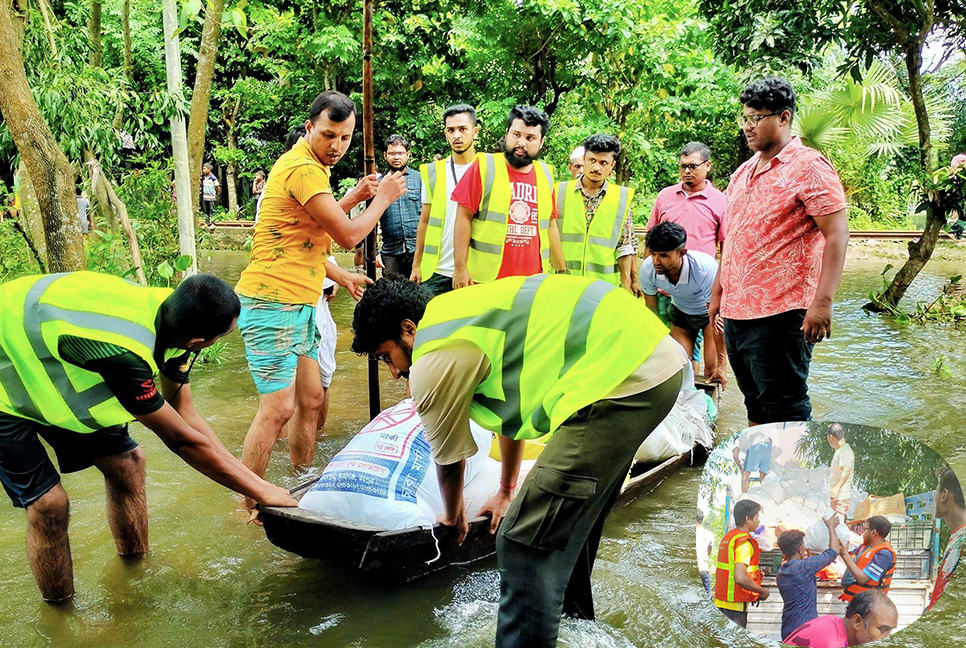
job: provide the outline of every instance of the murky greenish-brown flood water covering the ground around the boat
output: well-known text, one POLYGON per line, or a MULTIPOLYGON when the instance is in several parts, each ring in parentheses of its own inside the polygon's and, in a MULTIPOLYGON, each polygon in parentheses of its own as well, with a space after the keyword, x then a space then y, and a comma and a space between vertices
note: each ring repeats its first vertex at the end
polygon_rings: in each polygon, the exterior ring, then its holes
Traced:
MULTIPOLYGON (((216 253, 207 266, 234 282, 244 253, 216 253)), ((834 337, 816 350, 810 384, 814 416, 913 436, 966 475, 966 332, 899 325, 861 311, 884 262, 849 263, 835 305, 834 337), (940 358, 950 373, 937 372, 940 358)), ((910 290, 934 295, 953 264, 935 263, 910 290)), ((339 368, 324 465, 368 419, 365 362, 348 351, 352 301, 337 295, 339 368)), ((219 365, 192 375, 197 409, 225 444, 241 454, 257 397, 234 333, 219 365)), ((383 406, 405 386, 381 369, 383 406)), ((720 434, 743 427, 736 386, 725 392, 720 434)), ((350 569, 303 560, 274 547, 246 525, 236 497, 193 472, 153 434, 134 426, 148 456, 151 552, 127 564, 114 552, 99 473, 67 475, 76 600, 63 608, 40 602, 24 552, 25 518, 0 506, 0 646, 491 646, 499 577, 495 559, 390 585, 350 569)), ((318 468, 316 468, 318 472, 318 468)), ((276 449, 267 478, 292 486, 304 479, 276 449)), ((615 511, 597 569, 598 621, 564 622, 561 646, 762 646, 714 612, 694 566, 694 510, 700 471, 686 469, 651 495, 615 511)), ((966 576, 919 622, 877 645, 966 644, 966 576)))

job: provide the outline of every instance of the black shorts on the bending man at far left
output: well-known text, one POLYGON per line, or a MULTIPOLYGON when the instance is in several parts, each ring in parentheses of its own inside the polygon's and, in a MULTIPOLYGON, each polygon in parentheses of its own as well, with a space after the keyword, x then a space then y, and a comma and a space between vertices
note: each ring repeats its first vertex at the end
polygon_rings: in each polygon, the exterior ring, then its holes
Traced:
POLYGON ((41 437, 54 449, 62 473, 90 468, 96 459, 138 446, 127 425, 81 434, 0 413, 0 481, 16 507, 27 508, 60 483, 41 437))

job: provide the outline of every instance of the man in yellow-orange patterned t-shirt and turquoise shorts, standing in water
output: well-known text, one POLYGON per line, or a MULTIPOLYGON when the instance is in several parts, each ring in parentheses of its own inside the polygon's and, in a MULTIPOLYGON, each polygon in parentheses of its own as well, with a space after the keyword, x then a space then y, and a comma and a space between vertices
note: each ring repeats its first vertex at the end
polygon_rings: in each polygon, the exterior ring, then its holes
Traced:
POLYGON ((406 192, 405 178, 390 173, 378 188, 374 177, 364 178, 336 202, 329 169, 349 148, 355 117, 355 105, 345 95, 327 91, 316 97, 305 135, 279 157, 268 175, 251 259, 235 286, 242 304, 238 328, 259 394, 242 461, 258 475, 265 473, 272 447, 289 419, 292 464, 310 465, 315 454, 323 394, 315 305, 322 281, 328 273, 356 298, 368 281, 327 263, 331 242, 353 248, 386 207, 406 192), (350 221, 346 213, 370 197, 369 207, 350 221))

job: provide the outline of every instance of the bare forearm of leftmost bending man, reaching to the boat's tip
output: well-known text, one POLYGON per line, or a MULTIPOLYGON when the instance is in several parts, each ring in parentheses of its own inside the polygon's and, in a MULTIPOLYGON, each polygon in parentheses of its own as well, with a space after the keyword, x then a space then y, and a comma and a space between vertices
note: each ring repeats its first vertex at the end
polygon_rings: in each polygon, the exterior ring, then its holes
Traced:
POLYGON ((136 418, 157 434, 164 445, 184 459, 185 463, 222 486, 251 497, 260 504, 298 505, 287 489, 268 483, 246 468, 223 445, 216 444, 207 434, 188 425, 170 403, 165 403, 151 414, 138 415, 136 418))

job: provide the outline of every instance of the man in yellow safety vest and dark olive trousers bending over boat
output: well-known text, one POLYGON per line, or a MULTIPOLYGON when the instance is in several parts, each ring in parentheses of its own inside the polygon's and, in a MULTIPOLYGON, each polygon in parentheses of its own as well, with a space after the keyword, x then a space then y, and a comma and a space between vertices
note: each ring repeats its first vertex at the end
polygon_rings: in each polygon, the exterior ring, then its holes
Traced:
POLYGON ((588 277, 509 277, 430 297, 377 281, 356 307, 352 350, 409 378, 445 503, 438 522, 460 541, 463 470, 477 452, 469 419, 497 434, 500 489, 477 513, 499 527, 496 643, 550 648, 561 614, 594 618, 604 518, 687 360, 640 301, 588 277), (513 499, 524 442, 540 437, 549 441, 513 499))

